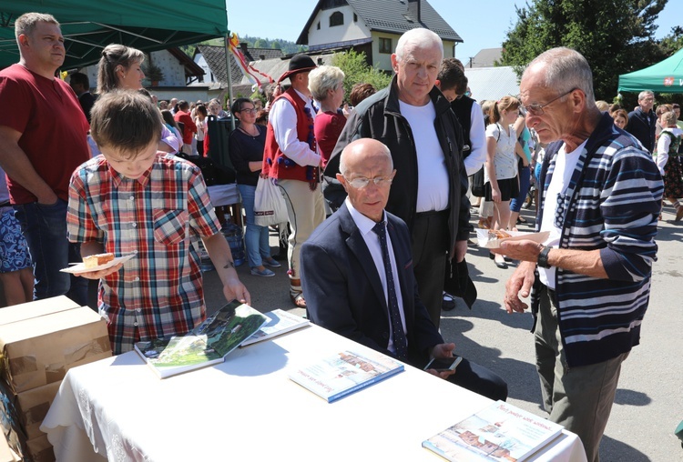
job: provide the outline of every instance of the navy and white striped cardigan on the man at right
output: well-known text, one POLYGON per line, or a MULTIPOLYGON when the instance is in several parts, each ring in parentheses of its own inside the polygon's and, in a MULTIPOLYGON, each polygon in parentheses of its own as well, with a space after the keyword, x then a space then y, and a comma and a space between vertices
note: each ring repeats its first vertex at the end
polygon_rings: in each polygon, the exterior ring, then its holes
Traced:
MULTIPOLYGON (((541 173, 541 226, 556 156, 562 142, 546 148, 541 173)), ((600 249, 607 279, 556 268, 557 317, 570 367, 596 364, 630 351, 640 339, 656 260, 657 222, 663 183, 637 139, 603 115, 586 142, 566 189, 559 247, 600 249)), ((547 198, 548 206, 556 200, 547 198)), ((532 311, 538 311, 536 274, 532 311)))

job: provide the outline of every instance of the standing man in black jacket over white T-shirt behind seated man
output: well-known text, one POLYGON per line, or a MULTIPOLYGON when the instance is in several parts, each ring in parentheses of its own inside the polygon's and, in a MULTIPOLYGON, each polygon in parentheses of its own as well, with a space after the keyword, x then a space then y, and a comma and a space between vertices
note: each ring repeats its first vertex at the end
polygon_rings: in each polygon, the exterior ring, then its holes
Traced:
MULTIPOLYGON (((392 55, 392 84, 368 97, 349 118, 325 168, 326 181, 339 173, 339 156, 357 138, 374 138, 392 152, 397 174, 386 206, 408 225, 415 279, 433 324, 441 318, 446 257, 462 262, 467 251, 470 203, 461 149, 462 131, 451 105, 434 86, 443 44, 432 31, 401 36, 392 55)), ((336 183, 325 189, 341 206, 336 183)))

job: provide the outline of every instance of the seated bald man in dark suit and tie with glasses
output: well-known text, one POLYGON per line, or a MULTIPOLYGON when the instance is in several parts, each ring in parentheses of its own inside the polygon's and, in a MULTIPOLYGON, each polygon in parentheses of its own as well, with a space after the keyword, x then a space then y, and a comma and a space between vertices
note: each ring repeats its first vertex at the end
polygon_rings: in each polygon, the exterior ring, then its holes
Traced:
MULTIPOLYGON (((348 197, 301 247, 301 283, 314 324, 422 368, 430 357, 453 357, 455 345, 443 342, 418 296, 408 227, 384 211, 395 173, 389 148, 377 140, 344 148, 337 179, 348 197)), ((502 378, 465 359, 455 373, 429 372, 485 397, 507 397, 502 378)))

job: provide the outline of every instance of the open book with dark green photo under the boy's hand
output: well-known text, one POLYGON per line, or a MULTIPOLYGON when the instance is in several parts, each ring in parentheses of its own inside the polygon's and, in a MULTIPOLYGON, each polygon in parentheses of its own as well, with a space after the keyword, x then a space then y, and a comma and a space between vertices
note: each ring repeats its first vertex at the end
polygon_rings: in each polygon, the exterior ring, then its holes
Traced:
POLYGON ((251 306, 235 300, 185 336, 138 342, 135 349, 159 377, 171 377, 222 363, 268 319, 251 306))

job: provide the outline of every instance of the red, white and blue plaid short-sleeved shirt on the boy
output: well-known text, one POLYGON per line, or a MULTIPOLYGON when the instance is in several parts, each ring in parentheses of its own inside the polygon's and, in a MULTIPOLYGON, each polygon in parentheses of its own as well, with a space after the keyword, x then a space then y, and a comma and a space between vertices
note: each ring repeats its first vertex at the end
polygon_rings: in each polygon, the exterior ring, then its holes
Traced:
POLYGON ((191 241, 219 232, 219 221, 198 167, 158 156, 143 176, 129 179, 97 156, 71 177, 66 224, 72 242, 137 254, 100 280, 100 313, 116 354, 138 340, 184 334, 205 319, 191 241))

